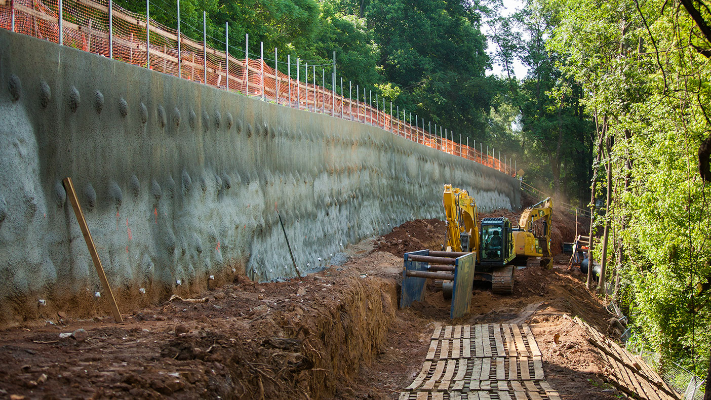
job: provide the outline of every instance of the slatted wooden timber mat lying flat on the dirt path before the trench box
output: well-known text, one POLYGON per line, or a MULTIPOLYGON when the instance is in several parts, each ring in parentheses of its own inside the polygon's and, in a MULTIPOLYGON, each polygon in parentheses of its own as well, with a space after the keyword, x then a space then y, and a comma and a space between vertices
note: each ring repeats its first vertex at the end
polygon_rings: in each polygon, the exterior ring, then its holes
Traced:
POLYGON ((560 400, 545 382, 528 325, 435 328, 422 370, 400 400, 560 400))

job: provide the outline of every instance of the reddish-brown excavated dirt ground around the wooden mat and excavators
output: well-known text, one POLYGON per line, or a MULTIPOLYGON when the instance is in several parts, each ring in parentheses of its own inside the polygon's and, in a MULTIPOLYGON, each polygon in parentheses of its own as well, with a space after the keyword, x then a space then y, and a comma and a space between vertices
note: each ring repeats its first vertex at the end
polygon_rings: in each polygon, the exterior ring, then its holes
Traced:
MULTIPOLYGON (((555 216, 556 249, 572 241, 574 220, 555 216)), ((562 399, 623 397, 605 383, 606 365, 584 331, 564 315, 609 337, 619 332, 560 251, 551 270, 517 271, 511 296, 477 286, 464 318, 449 319, 449 301, 431 284, 422 303, 399 309, 402 254, 442 242, 444 222, 415 220, 351 246, 343 266, 303 279, 240 276, 188 301, 136 310, 124 323, 68 311, 6 328, 0 398, 397 399, 422 368, 434 328, 523 322, 562 399)))

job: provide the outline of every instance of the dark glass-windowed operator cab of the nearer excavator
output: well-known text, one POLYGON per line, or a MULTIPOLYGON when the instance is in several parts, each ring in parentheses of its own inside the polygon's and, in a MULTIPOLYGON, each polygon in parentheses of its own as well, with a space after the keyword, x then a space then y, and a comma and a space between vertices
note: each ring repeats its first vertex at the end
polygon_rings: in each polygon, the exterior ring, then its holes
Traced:
POLYGON ((508 218, 481 220, 481 254, 479 264, 485 269, 505 266, 515 257, 513 235, 508 218))

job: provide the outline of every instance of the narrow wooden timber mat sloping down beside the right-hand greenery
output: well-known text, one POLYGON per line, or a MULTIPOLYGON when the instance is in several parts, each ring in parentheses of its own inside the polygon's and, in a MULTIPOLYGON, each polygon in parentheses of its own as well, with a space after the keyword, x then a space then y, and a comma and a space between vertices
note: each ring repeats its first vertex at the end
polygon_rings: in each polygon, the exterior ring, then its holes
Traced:
POLYGON ((646 362, 609 340, 599 330, 575 317, 602 360, 607 364, 606 378, 625 394, 636 399, 678 400, 679 396, 646 362))

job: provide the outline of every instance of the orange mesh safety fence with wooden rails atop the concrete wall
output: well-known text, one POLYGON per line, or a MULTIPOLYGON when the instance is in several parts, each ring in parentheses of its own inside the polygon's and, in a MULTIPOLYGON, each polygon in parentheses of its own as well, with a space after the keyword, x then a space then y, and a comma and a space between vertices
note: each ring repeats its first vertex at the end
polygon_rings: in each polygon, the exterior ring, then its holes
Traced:
MULTIPOLYGON (((309 82, 297 81, 284 73, 284 62, 276 65, 277 71, 259 58, 236 58, 225 50, 215 50, 202 41, 178 34, 176 29, 152 19, 146 24, 144 14, 127 11, 115 4, 112 6, 109 40, 108 0, 63 0, 61 4, 63 45, 223 90, 261 97, 287 107, 379 126, 424 146, 516 175, 510 163, 482 153, 476 146, 469 147, 433 135, 422 126, 392 117, 377 105, 373 107, 359 99, 342 97, 314 84, 313 70, 307 70, 309 82)), ((58 0, 0 0, 0 28, 9 31, 59 43, 58 18, 58 0)), ((323 82, 323 75, 316 74, 316 83, 319 78, 323 82)))

